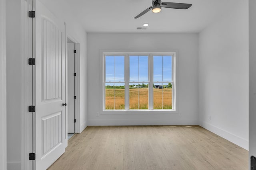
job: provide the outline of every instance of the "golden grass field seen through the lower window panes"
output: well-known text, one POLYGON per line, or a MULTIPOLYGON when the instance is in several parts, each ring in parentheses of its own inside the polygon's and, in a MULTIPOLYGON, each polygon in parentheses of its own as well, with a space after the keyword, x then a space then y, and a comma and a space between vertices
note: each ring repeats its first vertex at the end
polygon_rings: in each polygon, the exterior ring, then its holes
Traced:
MULTIPOLYGON (((164 109, 172 109, 172 88, 154 88, 153 95, 154 109, 163 109, 163 107, 164 109)), ((129 98, 130 109, 148 109, 148 88, 130 88, 129 98), (140 98, 138 97, 139 93, 140 98), (140 100, 140 108, 138 100, 140 100)), ((116 102, 114 100, 114 89, 106 89, 106 110, 124 109, 124 89, 116 89, 116 102)))

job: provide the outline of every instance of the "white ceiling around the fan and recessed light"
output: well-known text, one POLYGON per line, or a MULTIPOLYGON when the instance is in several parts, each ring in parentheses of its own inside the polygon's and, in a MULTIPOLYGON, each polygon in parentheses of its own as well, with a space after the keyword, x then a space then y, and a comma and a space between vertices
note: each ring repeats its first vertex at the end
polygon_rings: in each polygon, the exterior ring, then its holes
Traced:
MULTIPOLYGON (((87 32, 104 33, 197 33, 228 12, 232 0, 162 0, 190 3, 187 10, 162 8, 138 19, 134 17, 150 7, 151 0, 40 0, 57 16, 72 18, 87 32), (146 30, 137 30, 143 23, 146 30)), ((234 1, 233 1, 234 2, 234 1)))

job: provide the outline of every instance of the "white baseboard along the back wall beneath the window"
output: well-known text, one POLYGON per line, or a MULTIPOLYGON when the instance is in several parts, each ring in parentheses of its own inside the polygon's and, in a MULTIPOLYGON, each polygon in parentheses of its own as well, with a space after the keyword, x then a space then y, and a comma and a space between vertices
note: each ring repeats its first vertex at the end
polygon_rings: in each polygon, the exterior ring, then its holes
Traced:
POLYGON ((198 125, 198 119, 90 119, 88 126, 198 125))

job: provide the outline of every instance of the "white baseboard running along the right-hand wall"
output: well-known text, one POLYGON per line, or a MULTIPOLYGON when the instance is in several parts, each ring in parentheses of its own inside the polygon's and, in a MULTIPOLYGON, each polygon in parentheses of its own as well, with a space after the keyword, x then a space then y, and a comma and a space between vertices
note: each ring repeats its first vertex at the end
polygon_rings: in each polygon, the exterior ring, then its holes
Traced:
POLYGON ((207 122, 200 121, 199 125, 203 127, 204 129, 207 129, 208 131, 211 131, 212 133, 215 133, 216 135, 219 135, 220 137, 223 137, 224 139, 246 149, 249 150, 249 141, 246 139, 243 139, 237 135, 234 135, 232 133, 229 133, 228 131, 225 131, 223 129, 220 129, 214 125, 211 125, 207 122))

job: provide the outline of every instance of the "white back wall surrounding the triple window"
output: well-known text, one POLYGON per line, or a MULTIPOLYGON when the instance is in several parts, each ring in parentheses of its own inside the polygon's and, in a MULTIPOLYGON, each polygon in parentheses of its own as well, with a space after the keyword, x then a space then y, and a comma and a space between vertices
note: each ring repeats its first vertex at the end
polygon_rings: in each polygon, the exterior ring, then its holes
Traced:
MULTIPOLYGON (((198 34, 88 33, 88 125, 197 125, 198 34), (178 51, 178 114, 102 113, 102 54, 100 50, 178 51), (96 113, 100 115, 97 117, 96 113)), ((128 113, 128 112, 126 112, 128 113)), ((145 113, 145 112, 143 112, 145 113)), ((147 113, 147 111, 146 111, 147 113)))

